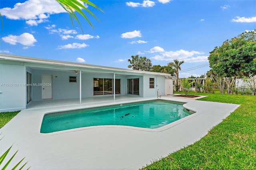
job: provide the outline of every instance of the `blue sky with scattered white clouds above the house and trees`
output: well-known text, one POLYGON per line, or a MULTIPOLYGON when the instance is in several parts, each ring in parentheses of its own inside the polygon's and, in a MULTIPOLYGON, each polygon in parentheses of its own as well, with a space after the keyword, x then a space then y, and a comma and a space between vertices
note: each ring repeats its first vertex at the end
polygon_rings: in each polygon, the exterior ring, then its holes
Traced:
MULTIPOLYGON (((55 0, 1 0, 0 52, 128 68, 132 55, 153 65, 184 60, 180 77, 210 68, 216 46, 256 29, 255 0, 91 0, 94 29, 78 15, 84 34, 55 0)), ((86 4, 85 4, 86 5, 86 4)))

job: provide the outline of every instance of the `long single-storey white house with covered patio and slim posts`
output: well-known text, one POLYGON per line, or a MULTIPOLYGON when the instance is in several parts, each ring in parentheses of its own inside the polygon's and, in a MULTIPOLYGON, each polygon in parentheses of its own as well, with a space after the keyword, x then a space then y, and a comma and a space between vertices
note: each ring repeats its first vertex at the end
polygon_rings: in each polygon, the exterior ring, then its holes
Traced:
POLYGON ((0 112, 26 109, 33 101, 117 95, 157 97, 173 93, 165 73, 0 54, 0 112))

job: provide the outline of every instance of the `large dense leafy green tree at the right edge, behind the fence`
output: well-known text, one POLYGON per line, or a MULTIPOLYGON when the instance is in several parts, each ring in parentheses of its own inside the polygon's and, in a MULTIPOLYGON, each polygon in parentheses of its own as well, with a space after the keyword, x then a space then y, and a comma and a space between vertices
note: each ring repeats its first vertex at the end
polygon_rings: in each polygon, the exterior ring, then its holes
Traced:
POLYGON ((211 72, 223 77, 256 75, 256 30, 244 32, 215 47, 208 57, 211 72))

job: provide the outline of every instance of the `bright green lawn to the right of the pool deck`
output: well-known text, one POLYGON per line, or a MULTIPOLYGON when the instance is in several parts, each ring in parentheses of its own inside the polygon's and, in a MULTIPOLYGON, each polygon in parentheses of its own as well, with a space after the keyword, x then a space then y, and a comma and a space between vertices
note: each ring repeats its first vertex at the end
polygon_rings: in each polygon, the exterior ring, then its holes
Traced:
MULTIPOLYGON (((180 92, 184 94, 184 92, 180 92)), ((201 101, 239 104, 240 107, 213 127, 206 136, 143 170, 255 170, 256 169, 256 96, 207 95, 201 101)))

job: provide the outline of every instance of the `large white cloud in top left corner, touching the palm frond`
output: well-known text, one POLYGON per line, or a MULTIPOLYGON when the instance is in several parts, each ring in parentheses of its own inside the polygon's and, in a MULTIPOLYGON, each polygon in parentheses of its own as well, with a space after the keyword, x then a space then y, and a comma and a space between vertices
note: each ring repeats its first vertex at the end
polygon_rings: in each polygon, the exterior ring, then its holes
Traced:
MULTIPOLYGON (((80 3, 85 5, 81 1, 80 3)), ((28 20, 26 23, 31 26, 47 22, 46 19, 51 14, 62 12, 66 11, 55 0, 27 0, 23 3, 16 3, 13 8, 6 7, 0 10, 2 16, 11 20, 28 20)))

